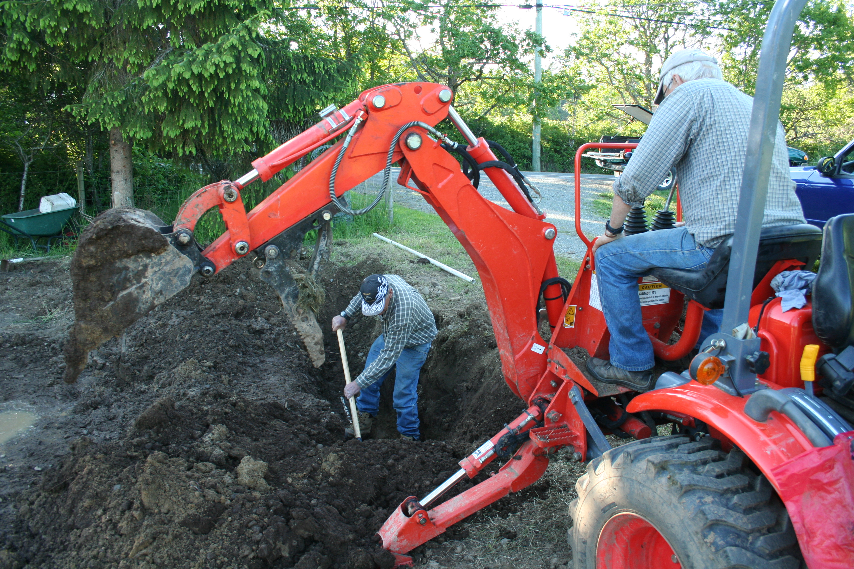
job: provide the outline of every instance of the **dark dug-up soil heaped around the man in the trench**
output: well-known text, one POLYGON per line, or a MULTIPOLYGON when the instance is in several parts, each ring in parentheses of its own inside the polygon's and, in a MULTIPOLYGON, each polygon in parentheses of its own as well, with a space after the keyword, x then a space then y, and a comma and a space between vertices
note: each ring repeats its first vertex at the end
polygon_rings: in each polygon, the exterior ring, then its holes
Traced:
MULTIPOLYGON (((362 278, 385 271, 377 259, 327 267, 319 369, 249 263, 194 278, 93 351, 76 391, 60 380, 69 318, 4 328, 0 369, 20 380, 0 395, 42 419, 0 471, 0 567, 390 566, 375 532, 391 509, 440 484, 522 404, 500 374, 483 299, 431 303, 440 332, 418 390, 425 441, 397 439, 392 374, 373 438, 345 442, 328 322, 362 278)), ((8 305, 69 305, 67 269, 44 273, 10 277, 8 305)), ((442 294, 442 277, 403 276, 425 298, 442 294)), ((349 323, 354 376, 377 334, 373 319, 349 323)))

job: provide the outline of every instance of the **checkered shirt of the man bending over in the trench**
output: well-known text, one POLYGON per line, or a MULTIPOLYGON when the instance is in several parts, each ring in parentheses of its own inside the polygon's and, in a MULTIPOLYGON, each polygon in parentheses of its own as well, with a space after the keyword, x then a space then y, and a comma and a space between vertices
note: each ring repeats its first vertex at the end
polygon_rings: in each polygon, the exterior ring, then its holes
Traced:
MULTIPOLYGON (((371 365, 367 366, 356 383, 360 387, 370 386, 383 376, 401 357, 403 348, 416 345, 430 344, 436 338, 436 319, 424 298, 417 290, 397 275, 383 275, 389 279, 389 287, 393 291, 389 310, 382 316, 376 316, 383 321, 385 347, 371 365)), ((343 316, 348 320, 361 313, 362 295, 357 293, 343 316)))

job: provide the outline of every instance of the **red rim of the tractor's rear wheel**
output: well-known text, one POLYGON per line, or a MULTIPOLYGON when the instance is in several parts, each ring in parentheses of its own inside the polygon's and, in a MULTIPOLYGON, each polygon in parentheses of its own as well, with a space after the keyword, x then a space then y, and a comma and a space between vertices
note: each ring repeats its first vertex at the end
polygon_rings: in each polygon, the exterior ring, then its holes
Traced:
POLYGON ((605 522, 596 544, 597 569, 679 569, 670 543, 638 514, 622 512, 605 522))

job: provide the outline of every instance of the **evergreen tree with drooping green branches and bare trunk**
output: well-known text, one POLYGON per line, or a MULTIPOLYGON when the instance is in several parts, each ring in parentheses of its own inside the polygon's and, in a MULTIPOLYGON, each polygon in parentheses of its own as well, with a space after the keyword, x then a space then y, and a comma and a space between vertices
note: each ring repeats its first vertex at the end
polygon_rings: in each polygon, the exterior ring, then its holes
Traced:
POLYGON ((70 109, 109 131, 113 205, 132 205, 132 143, 176 157, 265 148, 271 110, 304 119, 352 90, 354 61, 301 50, 289 25, 305 32, 268 0, 9 0, 0 71, 85 85, 70 109))

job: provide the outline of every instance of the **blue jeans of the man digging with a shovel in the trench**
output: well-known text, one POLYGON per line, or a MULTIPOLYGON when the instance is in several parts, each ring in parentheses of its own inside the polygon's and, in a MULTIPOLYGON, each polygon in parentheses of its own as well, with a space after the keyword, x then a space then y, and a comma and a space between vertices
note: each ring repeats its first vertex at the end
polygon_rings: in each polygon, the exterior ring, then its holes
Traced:
MULTIPOLYGON (((380 334, 371 345, 371 351, 368 351, 365 367, 377 359, 384 346, 385 339, 383 334, 380 334)), ((421 372, 424 360, 427 359, 428 351, 430 351, 430 344, 404 348, 401 351, 401 357, 398 357, 395 363, 397 371, 395 372, 394 407, 397 411, 397 430, 402 435, 416 439, 421 435, 418 432, 418 374, 421 372)), ((359 392, 359 397, 356 398, 356 406, 361 413, 377 415, 379 412, 379 388, 383 386, 383 381, 388 379, 390 373, 391 370, 389 369, 381 378, 359 392)))

